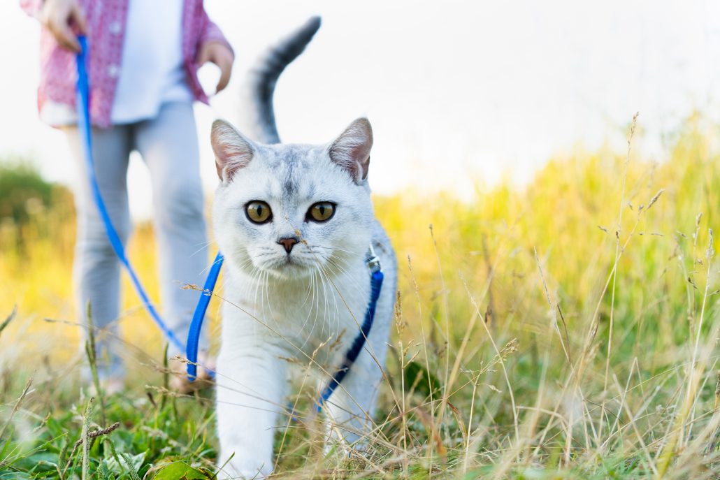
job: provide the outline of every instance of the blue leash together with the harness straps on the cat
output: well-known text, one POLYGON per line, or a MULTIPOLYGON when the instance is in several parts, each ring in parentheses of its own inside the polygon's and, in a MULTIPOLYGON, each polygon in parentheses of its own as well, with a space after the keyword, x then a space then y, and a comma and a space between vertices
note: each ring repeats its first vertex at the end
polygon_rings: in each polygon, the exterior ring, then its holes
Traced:
MULTIPOLYGON (((114 250, 117 258, 120 260, 120 263, 122 264, 122 266, 125 267, 125 270, 130 275, 132 286, 134 286, 135 291, 138 292, 138 296, 140 296, 140 300, 143 302, 145 309, 148 310, 150 317, 153 319, 156 325, 158 325, 158 328, 160 328, 160 330, 163 332, 163 334, 166 336, 170 343, 172 343, 179 350, 186 350, 187 359, 189 361, 187 364, 188 379, 190 381, 194 381, 194 379, 197 377, 197 348, 200 338, 200 331, 202 330, 202 322, 205 317, 205 312, 207 311, 207 306, 210 304, 212 292, 215 290, 217 276, 220 275, 220 267, 222 267, 223 261, 222 253, 217 253, 215 261, 210 267, 210 272, 207 274, 207 279, 205 280, 203 290, 200 293, 200 298, 197 302, 197 307, 195 307, 195 312, 192 316, 192 322, 190 324, 190 329, 187 335, 187 343, 185 346, 175 336, 173 331, 168 328, 160 314, 158 314, 158 311, 153 305, 153 302, 150 301, 150 297, 143 288, 143 284, 140 283, 140 279, 138 279, 138 276, 135 274, 135 269, 132 268, 132 264, 127 258, 127 255, 125 254, 125 247, 122 245, 120 235, 117 235, 117 230, 115 230, 115 227, 112 225, 110 215, 107 212, 107 207, 105 207, 105 202, 103 201, 102 195, 100 194, 100 188, 97 184, 97 178, 95 176, 94 158, 92 154, 92 132, 90 124, 89 105, 90 85, 89 74, 87 70, 87 62, 89 58, 88 42, 86 37, 84 36, 78 37, 78 41, 80 42, 81 47, 80 53, 77 54, 78 129, 80 130, 82 140, 81 143, 83 144, 86 168, 88 171, 88 180, 92 189, 95 205, 98 209, 100 217, 102 218, 102 222, 104 223, 108 240, 110 242, 110 245, 112 245, 112 250, 114 250)), ((380 290, 382 289, 382 280, 384 278, 382 268, 380 266, 380 261, 375 255, 372 249, 372 245, 370 246, 368 250, 368 255, 366 256, 366 265, 368 266, 370 272, 370 300, 368 302, 367 310, 365 312, 365 318, 360 327, 360 332, 356 336, 355 340, 353 340, 353 343, 348 352, 346 353, 340 368, 338 368, 336 373, 333 374, 333 377, 330 379, 330 381, 328 381, 328 386, 326 386, 322 394, 320 394, 320 400, 318 401, 317 405, 318 412, 320 412, 320 410, 323 408, 323 404, 325 404, 328 398, 330 398, 330 395, 333 394, 333 391, 338 388, 341 381, 343 381, 345 376, 348 374, 350 367, 360 355, 360 352, 365 345, 365 341, 372 327, 372 321, 375 316, 375 309, 377 307, 377 300, 380 296, 380 290)))

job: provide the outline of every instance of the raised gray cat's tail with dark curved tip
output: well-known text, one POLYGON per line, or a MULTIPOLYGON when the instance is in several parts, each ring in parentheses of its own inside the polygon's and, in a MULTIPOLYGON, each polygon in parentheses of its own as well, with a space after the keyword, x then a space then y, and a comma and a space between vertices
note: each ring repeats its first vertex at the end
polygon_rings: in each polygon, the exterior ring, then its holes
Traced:
POLYGON ((262 143, 279 143, 273 93, 285 67, 298 57, 320 28, 320 17, 310 19, 276 45, 270 47, 251 68, 243 85, 243 131, 262 143))

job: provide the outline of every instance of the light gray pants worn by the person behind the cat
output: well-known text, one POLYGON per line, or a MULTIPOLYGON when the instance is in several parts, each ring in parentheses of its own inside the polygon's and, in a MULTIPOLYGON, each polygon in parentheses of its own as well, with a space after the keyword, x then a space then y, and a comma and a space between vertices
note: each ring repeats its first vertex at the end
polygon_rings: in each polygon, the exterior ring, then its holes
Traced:
MULTIPOLYGON (((78 236, 74 277, 78 308, 85 312, 89 302, 95 326, 106 329, 98 353, 98 357, 104 359, 102 374, 122 374, 117 356, 122 347, 114 340, 118 338, 114 320, 120 317, 120 261, 107 239, 92 199, 78 129, 68 127, 65 131, 80 175, 75 194, 78 236)), ((107 129, 93 128, 92 141, 100 193, 123 244, 130 234, 127 202, 130 153, 138 150, 148 166, 158 242, 159 311, 168 327, 184 343, 199 293, 181 287, 186 283, 202 285, 208 263, 192 105, 172 102, 164 104, 154 119, 107 129)), ((83 313, 83 320, 86 322, 86 313, 83 313)), ((152 322, 149 315, 147 321, 152 322)), ((201 338, 200 343, 201 348, 207 347, 205 338, 201 338)), ((181 352, 171 345, 171 353, 181 352)))

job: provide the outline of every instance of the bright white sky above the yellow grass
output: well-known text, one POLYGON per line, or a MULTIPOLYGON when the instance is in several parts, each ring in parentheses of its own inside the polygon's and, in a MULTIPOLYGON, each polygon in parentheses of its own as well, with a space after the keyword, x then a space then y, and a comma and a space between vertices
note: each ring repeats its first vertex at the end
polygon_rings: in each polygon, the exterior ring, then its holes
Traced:
MULTIPOLYGON (((279 81, 276 114, 289 142, 326 142, 367 115, 371 185, 472 191, 521 183, 556 153, 605 140, 621 148, 641 112, 642 148, 700 109, 720 119, 720 4, 714 1, 206 0, 235 47, 228 91, 196 109, 207 192, 216 176, 208 132, 238 117, 238 82, 266 45, 311 14, 323 27, 279 81)), ((76 180, 63 135, 37 119, 39 27, 0 2, 0 156, 30 154, 53 180, 76 180)), ((639 145, 640 146, 640 145, 639 145)), ((135 216, 150 186, 135 158, 135 216)))

